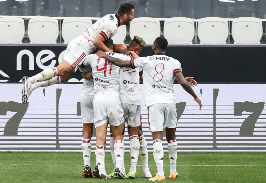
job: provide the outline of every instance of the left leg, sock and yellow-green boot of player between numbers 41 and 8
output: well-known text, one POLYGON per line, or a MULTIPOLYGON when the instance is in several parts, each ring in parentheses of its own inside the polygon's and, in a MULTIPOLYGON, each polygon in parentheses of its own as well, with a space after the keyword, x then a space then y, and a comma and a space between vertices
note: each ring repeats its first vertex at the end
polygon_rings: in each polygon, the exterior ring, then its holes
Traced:
POLYGON ((136 177, 136 167, 138 163, 138 157, 139 157, 139 127, 131 127, 128 126, 128 135, 129 135, 129 149, 130 149, 130 169, 128 171, 128 174, 126 178, 135 178, 136 177))

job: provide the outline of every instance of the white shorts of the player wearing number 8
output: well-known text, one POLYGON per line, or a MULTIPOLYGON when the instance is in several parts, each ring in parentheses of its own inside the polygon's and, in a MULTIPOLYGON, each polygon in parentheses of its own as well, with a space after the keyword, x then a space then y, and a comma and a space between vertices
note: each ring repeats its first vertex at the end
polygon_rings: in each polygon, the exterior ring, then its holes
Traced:
POLYGON ((163 131, 163 128, 176 128, 176 104, 156 103, 148 107, 148 123, 151 132, 163 131))

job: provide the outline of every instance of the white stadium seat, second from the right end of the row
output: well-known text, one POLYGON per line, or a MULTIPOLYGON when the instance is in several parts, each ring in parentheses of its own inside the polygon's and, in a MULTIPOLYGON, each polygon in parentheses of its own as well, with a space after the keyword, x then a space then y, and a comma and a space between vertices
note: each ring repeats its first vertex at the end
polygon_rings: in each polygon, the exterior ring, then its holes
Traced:
POLYGON ((198 21, 200 44, 226 44, 228 22, 225 18, 207 17, 198 21))

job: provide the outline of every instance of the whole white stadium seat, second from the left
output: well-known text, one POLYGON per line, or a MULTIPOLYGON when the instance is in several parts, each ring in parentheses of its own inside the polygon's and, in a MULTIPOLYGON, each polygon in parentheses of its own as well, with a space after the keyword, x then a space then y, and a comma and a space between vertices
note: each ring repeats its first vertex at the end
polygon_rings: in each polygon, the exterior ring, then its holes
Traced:
POLYGON ((31 18, 28 24, 28 36, 33 44, 54 44, 58 37, 58 20, 51 17, 31 18))

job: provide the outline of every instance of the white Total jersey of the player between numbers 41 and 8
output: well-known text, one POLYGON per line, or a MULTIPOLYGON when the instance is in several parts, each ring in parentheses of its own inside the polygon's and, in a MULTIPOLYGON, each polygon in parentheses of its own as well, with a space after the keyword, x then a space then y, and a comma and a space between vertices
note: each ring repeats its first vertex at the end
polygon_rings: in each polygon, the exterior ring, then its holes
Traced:
MULTIPOLYGON (((130 54, 127 55, 131 59, 130 54)), ((122 103, 129 103, 141 106, 141 93, 139 88, 139 76, 142 68, 132 69, 130 67, 120 68, 119 73, 119 93, 122 103)))

